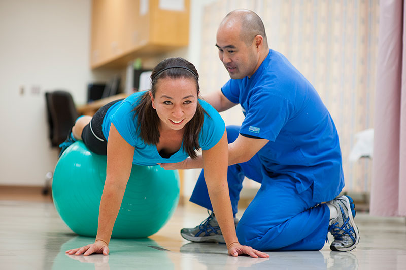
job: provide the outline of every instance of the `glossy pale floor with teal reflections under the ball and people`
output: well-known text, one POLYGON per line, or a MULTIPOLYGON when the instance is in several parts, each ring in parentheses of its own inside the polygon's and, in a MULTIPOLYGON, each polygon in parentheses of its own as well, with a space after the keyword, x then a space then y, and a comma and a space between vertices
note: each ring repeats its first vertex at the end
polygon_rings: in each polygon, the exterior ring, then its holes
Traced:
MULTIPOLYGON (((243 211, 240 211, 243 212, 243 211)), ((351 252, 268 252, 269 259, 227 256, 223 244, 191 243, 179 230, 207 217, 192 204, 179 206, 171 220, 146 239, 112 239, 110 255, 67 256, 65 250, 91 243, 71 232, 50 202, 0 201, 2 269, 404 269, 405 218, 357 213, 361 241, 351 252)), ((331 240, 330 240, 331 241, 331 240)))

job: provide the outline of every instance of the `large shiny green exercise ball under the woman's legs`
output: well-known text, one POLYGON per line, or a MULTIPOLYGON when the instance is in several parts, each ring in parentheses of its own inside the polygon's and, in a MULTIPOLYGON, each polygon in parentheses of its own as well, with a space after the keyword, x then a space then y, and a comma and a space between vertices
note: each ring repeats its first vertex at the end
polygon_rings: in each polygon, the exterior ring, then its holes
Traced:
MULTIPOLYGON (((52 197, 56 211, 75 233, 95 237, 106 179, 107 157, 90 152, 82 141, 67 148, 56 164, 52 197)), ((112 237, 155 234, 170 219, 179 201, 177 171, 132 165, 112 237)))

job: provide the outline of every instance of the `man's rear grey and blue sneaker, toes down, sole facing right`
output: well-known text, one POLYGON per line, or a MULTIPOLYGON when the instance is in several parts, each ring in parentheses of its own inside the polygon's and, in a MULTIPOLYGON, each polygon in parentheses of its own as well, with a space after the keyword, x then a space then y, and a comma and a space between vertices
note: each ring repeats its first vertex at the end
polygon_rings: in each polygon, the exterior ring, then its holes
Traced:
POLYGON ((334 236, 330 245, 333 251, 350 251, 359 243, 359 230, 355 225, 355 205, 350 196, 340 196, 328 204, 337 208, 339 214, 330 220, 328 230, 334 236))

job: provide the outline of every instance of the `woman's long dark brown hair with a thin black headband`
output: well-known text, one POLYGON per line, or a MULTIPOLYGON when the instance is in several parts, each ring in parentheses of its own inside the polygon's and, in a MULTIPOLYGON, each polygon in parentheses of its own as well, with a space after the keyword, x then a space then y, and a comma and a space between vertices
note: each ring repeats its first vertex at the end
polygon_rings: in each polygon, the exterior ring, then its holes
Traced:
MULTIPOLYGON (((156 84, 162 78, 192 78, 196 82, 196 90, 199 92, 199 75, 196 68, 189 61, 176 57, 168 58, 160 62, 151 74, 151 93, 155 98, 156 84)), ((159 142, 159 117, 156 110, 152 107, 152 101, 148 91, 140 97, 139 104, 134 108, 135 116, 137 116, 137 129, 140 137, 147 144, 156 145, 159 142)), ((199 132, 203 126, 204 114, 206 111, 197 102, 196 113, 193 118, 186 123, 183 134, 183 149, 191 158, 196 158, 196 149, 199 145, 199 132)))

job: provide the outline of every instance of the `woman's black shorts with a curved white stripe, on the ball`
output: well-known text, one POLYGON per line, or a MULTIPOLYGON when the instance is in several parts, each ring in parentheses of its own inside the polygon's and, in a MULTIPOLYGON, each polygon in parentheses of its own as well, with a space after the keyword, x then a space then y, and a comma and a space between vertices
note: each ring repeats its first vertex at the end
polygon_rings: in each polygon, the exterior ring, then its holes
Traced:
POLYGON ((87 148, 93 153, 107 155, 107 140, 101 127, 103 126, 103 120, 109 108, 122 100, 123 99, 114 100, 99 108, 99 110, 93 115, 89 124, 83 128, 82 140, 87 148))

